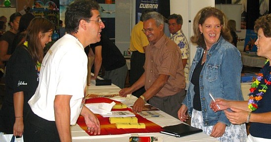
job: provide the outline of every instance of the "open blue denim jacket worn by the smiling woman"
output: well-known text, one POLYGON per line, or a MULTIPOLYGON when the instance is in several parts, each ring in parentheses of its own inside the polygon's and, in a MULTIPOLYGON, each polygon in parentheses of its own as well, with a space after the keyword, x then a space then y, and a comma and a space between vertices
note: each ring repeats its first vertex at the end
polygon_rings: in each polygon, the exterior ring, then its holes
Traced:
MULTIPOLYGON (((195 95, 191 77, 202 55, 203 48, 198 47, 189 72, 187 95, 182 103, 187 106, 190 116, 192 115, 193 98, 195 95)), ((242 101, 243 97, 240 86, 241 69, 240 52, 233 44, 220 36, 219 40, 209 49, 203 70, 200 74, 200 98, 204 126, 215 125, 218 121, 226 125, 231 124, 224 111, 214 112, 210 109, 212 99, 209 93, 213 95, 214 99, 223 98, 225 100, 242 101)))

